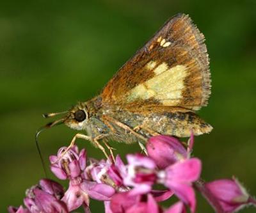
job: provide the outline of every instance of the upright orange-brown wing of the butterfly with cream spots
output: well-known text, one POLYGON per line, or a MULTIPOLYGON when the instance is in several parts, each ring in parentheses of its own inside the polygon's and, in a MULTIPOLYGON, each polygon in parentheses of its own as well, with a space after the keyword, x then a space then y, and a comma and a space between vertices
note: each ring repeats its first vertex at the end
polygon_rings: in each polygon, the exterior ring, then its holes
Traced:
POLYGON ((120 68, 102 91, 102 103, 198 110, 207 105, 210 77, 204 35, 179 14, 120 68))

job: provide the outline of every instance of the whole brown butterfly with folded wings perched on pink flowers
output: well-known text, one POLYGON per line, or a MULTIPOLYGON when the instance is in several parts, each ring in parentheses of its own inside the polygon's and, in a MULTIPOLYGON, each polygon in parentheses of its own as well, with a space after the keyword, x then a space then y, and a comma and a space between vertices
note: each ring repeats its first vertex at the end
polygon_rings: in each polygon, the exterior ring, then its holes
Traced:
MULTIPOLYGON (((124 64, 91 100, 79 102, 60 120, 77 138, 91 141, 108 157, 108 141, 143 144, 151 136, 178 138, 209 133, 211 125, 196 113, 207 106, 211 73, 204 35, 188 15, 178 14, 124 64)), ((45 114, 45 117, 60 113, 45 114)))

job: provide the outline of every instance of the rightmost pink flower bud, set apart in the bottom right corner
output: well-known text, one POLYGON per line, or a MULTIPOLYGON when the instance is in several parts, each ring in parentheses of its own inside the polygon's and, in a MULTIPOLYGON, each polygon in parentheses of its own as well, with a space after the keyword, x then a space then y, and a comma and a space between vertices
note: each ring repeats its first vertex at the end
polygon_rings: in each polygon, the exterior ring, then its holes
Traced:
MULTIPOLYGON (((223 209, 223 212, 236 212, 245 205, 256 204, 256 201, 247 193, 243 185, 235 178, 214 180, 204 185, 205 189, 214 196, 223 209)), ((210 203, 214 207, 214 203, 210 203)))

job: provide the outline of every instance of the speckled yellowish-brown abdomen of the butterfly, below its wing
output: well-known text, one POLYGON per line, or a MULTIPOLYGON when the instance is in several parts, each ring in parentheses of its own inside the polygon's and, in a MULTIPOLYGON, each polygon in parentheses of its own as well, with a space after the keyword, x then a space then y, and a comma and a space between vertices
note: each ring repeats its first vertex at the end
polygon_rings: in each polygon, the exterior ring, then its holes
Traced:
MULTIPOLYGON (((145 138, 149 138, 154 133, 184 138, 190 136, 191 130, 195 135, 209 133, 212 130, 211 125, 204 122, 204 120, 192 111, 147 114, 120 111, 119 113, 109 114, 109 116, 112 118, 115 117, 115 120, 120 121, 145 138)), ((134 134, 131 134, 129 130, 118 127, 115 122, 111 123, 116 129, 114 138, 118 138, 119 141, 132 143, 140 140, 140 138, 136 138, 134 134)))

